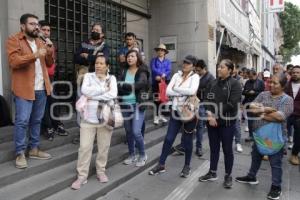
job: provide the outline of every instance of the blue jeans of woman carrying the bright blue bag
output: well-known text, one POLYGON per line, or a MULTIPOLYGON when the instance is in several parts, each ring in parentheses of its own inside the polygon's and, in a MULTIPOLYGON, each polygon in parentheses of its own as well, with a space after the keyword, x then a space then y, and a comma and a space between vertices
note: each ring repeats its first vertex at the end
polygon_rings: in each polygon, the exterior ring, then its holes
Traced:
MULTIPOLYGON (((268 156, 272 170, 272 185, 278 187, 281 187, 283 149, 284 148, 282 148, 278 153, 274 155, 268 156)), ((253 144, 251 152, 252 161, 248 176, 253 178, 256 177, 263 156, 264 155, 259 153, 256 144, 253 144)))

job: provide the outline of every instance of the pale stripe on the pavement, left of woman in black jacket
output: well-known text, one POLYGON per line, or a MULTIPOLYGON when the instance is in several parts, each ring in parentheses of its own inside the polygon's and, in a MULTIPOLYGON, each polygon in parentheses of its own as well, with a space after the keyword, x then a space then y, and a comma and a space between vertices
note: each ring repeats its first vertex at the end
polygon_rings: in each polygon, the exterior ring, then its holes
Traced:
POLYGON ((207 173, 209 170, 209 161, 202 163, 189 178, 183 181, 175 190, 173 190, 164 200, 184 200, 199 185, 199 177, 207 173))

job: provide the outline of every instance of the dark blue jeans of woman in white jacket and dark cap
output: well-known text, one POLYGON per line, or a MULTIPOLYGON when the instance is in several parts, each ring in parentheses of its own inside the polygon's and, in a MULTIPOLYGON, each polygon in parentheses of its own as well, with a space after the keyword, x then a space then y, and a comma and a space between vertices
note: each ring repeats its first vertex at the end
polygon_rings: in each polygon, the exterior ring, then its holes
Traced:
MULTIPOLYGON (((184 125, 184 129, 188 132, 193 130, 196 125, 196 119, 194 119, 191 122, 187 122, 185 124, 182 123, 181 120, 178 118, 178 113, 175 111, 172 111, 169 125, 168 125, 168 131, 167 135, 164 140, 162 152, 159 159, 160 165, 165 165, 165 162, 167 160, 168 155, 170 154, 172 145, 175 141, 175 138, 181 129, 181 127, 184 125), (174 118, 176 116, 176 119, 174 118)), ((190 165, 191 158, 192 158, 192 152, 193 152, 193 134, 192 133, 182 133, 182 142, 183 147, 185 149, 185 165, 190 165)))

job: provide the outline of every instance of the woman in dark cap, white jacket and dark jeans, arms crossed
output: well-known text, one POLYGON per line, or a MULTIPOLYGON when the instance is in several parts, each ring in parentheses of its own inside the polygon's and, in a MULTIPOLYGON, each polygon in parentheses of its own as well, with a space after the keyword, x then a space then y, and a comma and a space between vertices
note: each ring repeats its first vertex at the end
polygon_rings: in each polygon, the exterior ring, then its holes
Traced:
POLYGON ((197 119, 183 123, 178 114, 178 105, 182 105, 188 96, 196 95, 200 77, 194 73, 197 58, 187 56, 183 60, 182 71, 174 74, 167 87, 167 95, 173 97, 172 114, 169 121, 167 135, 164 140, 163 149, 160 155, 159 163, 149 171, 150 175, 156 175, 165 172, 165 162, 170 153, 174 140, 183 126, 183 145, 185 149, 185 163, 180 173, 181 177, 190 175, 190 162, 193 151, 193 130, 196 128, 197 119))

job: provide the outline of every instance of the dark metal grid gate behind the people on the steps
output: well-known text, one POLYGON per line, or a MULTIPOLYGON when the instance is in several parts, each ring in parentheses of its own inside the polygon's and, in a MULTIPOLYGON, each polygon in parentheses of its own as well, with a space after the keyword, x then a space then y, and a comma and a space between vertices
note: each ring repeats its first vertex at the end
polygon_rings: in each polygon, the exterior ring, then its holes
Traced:
POLYGON ((117 51, 126 33, 126 10, 109 0, 45 0, 45 19, 57 47, 56 80, 75 80, 74 52, 87 40, 91 25, 101 22, 110 47, 111 72, 117 71, 117 51))

